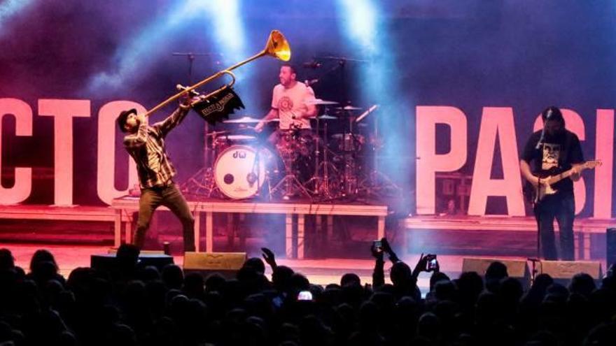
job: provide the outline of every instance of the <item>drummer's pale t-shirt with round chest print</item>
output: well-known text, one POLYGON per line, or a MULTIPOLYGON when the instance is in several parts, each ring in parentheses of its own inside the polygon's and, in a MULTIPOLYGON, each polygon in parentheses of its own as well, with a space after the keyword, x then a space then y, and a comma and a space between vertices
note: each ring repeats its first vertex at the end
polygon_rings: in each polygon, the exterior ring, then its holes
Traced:
POLYGON ((314 91, 302 82, 286 88, 279 84, 274 87, 272 95, 272 108, 278 110, 280 119, 279 128, 287 130, 291 125, 300 126, 300 129, 310 129, 310 120, 301 117, 307 111, 306 101, 314 99, 314 91), (296 119, 293 119, 295 115, 296 119))

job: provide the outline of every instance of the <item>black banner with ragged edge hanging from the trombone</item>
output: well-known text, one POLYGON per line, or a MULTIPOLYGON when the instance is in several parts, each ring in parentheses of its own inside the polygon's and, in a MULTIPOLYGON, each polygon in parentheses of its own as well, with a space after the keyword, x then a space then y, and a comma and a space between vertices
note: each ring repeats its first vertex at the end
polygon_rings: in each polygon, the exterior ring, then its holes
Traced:
POLYGON ((244 103, 230 87, 193 104, 193 109, 209 124, 229 119, 229 115, 240 108, 244 108, 244 103))

